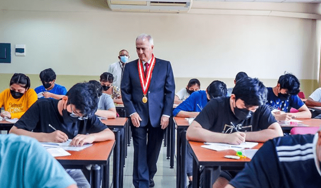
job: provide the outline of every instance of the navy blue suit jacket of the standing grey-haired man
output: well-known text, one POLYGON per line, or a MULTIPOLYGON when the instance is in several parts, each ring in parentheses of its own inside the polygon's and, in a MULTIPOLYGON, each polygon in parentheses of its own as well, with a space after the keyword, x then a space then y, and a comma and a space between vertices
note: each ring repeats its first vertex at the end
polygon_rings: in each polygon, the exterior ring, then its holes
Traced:
POLYGON ((147 103, 142 102, 143 92, 138 74, 138 59, 126 64, 121 80, 121 97, 127 115, 138 113, 146 126, 148 118, 153 127, 161 125, 162 115, 172 116, 175 96, 175 81, 170 61, 155 59, 149 88, 147 103))

